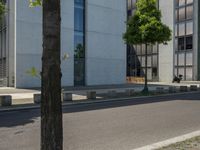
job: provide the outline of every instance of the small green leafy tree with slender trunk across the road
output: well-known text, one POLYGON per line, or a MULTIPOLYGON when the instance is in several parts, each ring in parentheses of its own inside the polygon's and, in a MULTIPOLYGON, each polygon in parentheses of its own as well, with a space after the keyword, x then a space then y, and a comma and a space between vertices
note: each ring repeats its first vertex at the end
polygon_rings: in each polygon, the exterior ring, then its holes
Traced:
POLYGON ((161 22, 161 11, 156 7, 156 0, 138 0, 136 11, 127 22, 127 31, 123 36, 127 44, 145 44, 145 86, 147 86, 147 46, 166 44, 171 40, 171 30, 161 22))

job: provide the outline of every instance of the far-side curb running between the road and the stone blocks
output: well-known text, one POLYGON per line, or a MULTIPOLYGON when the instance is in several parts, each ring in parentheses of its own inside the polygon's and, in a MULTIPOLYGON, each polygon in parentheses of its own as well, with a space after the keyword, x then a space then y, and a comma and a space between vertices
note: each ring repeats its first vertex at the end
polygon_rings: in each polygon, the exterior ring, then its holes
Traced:
MULTIPOLYGON (((180 93, 167 93, 161 95, 152 95, 152 96, 137 96, 137 97, 127 97, 127 98, 113 98, 113 99, 101 99, 101 100, 89 100, 89 101, 77 101, 77 102, 70 102, 70 103, 63 103, 62 106, 77 106, 77 105, 87 105, 87 104, 95 104, 95 103, 103 103, 103 102, 113 102, 113 101, 123 101, 123 100, 131 100, 131 99, 141 99, 141 98, 156 98, 156 97, 163 97, 163 96, 174 96, 174 95, 183 95, 183 94, 195 94, 199 93, 199 91, 191 91, 191 92, 180 92, 180 93)), ((7 107, 7 108, 0 108, 0 112, 7 112, 7 111, 19 111, 19 110, 29 110, 29 109, 39 109, 40 105, 38 104, 29 104, 29 106, 16 106, 16 107, 7 107)))

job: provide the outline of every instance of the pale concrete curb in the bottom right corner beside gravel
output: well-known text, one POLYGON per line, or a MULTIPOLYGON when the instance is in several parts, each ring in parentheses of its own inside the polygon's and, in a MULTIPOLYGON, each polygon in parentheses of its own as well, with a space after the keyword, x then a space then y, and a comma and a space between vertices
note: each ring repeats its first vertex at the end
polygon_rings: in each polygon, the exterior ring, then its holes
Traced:
POLYGON ((132 150, 156 150, 197 136, 200 136, 200 130, 132 150))

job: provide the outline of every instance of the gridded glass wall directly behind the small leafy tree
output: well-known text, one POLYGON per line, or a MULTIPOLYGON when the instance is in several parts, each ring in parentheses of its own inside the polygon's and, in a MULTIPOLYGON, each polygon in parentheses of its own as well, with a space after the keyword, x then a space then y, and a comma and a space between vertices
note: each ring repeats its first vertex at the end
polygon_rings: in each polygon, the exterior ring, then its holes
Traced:
MULTIPOLYGON (((128 19, 134 14, 137 0, 128 0, 128 19)), ((148 45, 147 78, 158 81, 158 45, 148 45)), ((127 46, 127 76, 144 77, 145 75, 145 45, 127 46)))

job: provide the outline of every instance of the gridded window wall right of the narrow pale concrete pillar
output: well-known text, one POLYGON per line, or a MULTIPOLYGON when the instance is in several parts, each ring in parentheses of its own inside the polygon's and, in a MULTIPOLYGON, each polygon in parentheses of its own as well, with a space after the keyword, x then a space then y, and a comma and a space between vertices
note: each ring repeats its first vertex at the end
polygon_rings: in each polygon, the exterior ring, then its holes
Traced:
POLYGON ((175 0, 174 73, 193 80, 193 0, 175 0))

